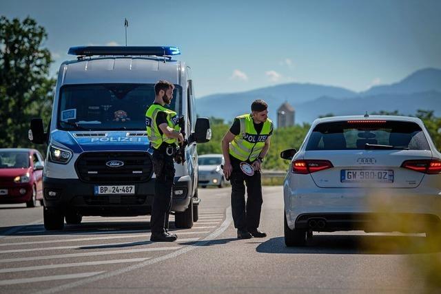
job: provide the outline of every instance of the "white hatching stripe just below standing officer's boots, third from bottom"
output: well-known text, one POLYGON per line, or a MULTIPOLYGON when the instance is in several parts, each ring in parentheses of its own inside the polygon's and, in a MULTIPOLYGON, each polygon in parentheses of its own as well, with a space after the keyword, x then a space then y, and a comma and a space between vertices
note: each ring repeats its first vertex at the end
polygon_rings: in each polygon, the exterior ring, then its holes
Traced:
POLYGON ((83 256, 111 255, 111 254, 121 254, 121 253, 136 253, 136 252, 163 251, 163 250, 176 250, 176 249, 181 249, 181 246, 108 250, 108 251, 95 251, 95 252, 85 252, 85 253, 68 253, 68 254, 58 254, 58 255, 31 256, 29 258, 8 258, 5 260, 0 260, 0 263, 28 262, 30 260, 51 260, 52 258, 79 258, 83 256))

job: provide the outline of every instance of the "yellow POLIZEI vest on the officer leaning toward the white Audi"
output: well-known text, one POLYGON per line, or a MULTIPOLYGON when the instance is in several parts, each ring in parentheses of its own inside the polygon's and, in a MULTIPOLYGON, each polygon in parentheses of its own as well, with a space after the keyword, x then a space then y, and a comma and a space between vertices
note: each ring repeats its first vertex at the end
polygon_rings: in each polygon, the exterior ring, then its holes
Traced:
POLYGON ((240 122, 240 133, 230 143, 229 154, 239 160, 253 162, 265 146, 265 141, 273 129, 273 122, 268 118, 263 123, 260 134, 257 134, 256 129, 254 129, 252 114, 243 114, 236 118, 240 122))

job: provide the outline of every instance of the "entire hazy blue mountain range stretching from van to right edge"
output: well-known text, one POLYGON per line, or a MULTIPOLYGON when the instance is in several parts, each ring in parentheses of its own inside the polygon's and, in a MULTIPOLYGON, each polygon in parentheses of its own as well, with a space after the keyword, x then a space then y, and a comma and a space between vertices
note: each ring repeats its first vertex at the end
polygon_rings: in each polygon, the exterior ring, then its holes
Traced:
POLYGON ((398 83, 378 85, 365 92, 352 92, 340 87, 289 83, 248 92, 214 94, 199 98, 200 116, 215 116, 231 121, 238 114, 249 112, 255 99, 269 105, 269 117, 276 121, 277 109, 287 101, 296 109, 296 123, 311 123, 320 115, 365 114, 380 110, 398 110, 416 114, 418 109, 434 110, 441 116, 441 70, 418 70, 398 83))

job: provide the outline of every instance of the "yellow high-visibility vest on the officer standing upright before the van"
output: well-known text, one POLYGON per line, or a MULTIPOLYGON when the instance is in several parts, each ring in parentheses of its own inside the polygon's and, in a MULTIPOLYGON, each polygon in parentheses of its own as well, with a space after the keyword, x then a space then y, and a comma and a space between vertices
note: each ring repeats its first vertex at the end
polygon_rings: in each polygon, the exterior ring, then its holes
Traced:
POLYGON ((168 138, 164 134, 161 135, 159 132, 159 128, 156 125, 156 116, 158 115, 158 112, 165 112, 165 114, 167 114, 167 125, 169 127, 176 132, 181 131, 181 127, 178 125, 178 114, 176 114, 176 112, 158 104, 150 105, 145 112, 145 126, 147 127, 147 137, 149 138, 152 147, 158 149, 163 142, 178 145, 178 139, 168 138))

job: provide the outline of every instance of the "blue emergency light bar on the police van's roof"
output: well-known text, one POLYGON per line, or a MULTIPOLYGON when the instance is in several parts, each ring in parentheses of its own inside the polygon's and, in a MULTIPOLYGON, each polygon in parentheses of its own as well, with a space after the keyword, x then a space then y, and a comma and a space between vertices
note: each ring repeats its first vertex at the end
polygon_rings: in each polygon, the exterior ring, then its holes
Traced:
POLYGON ((70 55, 93 56, 93 55, 155 55, 172 56, 179 55, 181 51, 173 46, 78 46, 71 47, 70 55))

